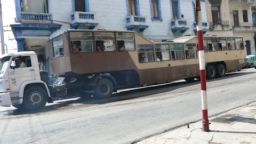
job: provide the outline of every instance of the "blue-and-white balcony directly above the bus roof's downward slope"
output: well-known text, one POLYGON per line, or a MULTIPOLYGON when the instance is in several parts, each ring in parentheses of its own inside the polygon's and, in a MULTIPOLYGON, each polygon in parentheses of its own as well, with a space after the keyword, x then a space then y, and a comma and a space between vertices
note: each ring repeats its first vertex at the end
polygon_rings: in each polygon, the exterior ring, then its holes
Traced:
POLYGON ((139 29, 143 32, 148 28, 147 17, 130 15, 126 17, 126 28, 127 30, 139 29))

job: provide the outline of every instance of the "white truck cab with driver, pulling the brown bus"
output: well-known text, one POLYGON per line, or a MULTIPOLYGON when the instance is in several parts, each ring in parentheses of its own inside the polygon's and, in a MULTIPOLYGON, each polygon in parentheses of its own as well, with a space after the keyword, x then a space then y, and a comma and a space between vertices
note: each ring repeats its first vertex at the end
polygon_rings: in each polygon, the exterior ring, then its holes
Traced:
POLYGON ((35 52, 0 55, 0 70, 0 106, 34 110, 53 102, 49 77, 39 71, 35 52))

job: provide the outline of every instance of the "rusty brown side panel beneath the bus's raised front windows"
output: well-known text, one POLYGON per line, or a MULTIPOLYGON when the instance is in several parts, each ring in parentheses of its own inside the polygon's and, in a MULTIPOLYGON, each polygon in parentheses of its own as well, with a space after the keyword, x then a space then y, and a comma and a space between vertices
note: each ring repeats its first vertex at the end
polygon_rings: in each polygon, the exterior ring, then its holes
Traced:
POLYGON ((71 53, 71 71, 76 74, 137 70, 129 52, 71 53))

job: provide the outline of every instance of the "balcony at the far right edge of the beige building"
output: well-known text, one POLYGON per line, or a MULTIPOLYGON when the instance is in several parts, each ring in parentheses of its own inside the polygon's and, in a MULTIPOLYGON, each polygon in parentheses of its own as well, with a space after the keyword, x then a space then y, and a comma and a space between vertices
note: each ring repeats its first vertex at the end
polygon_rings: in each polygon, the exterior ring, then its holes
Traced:
POLYGON ((256 32, 256 27, 253 26, 252 22, 243 22, 243 23, 231 23, 233 31, 251 31, 256 32))

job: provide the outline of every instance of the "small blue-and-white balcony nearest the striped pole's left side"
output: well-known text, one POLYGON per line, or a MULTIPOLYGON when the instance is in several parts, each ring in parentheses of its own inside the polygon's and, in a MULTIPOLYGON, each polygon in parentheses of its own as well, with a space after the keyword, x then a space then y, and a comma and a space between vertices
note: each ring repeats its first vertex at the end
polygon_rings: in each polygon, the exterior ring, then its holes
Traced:
POLYGON ((173 34, 177 31, 180 31, 180 33, 185 33, 185 31, 189 29, 187 26, 187 20, 172 20, 171 24, 173 34))

